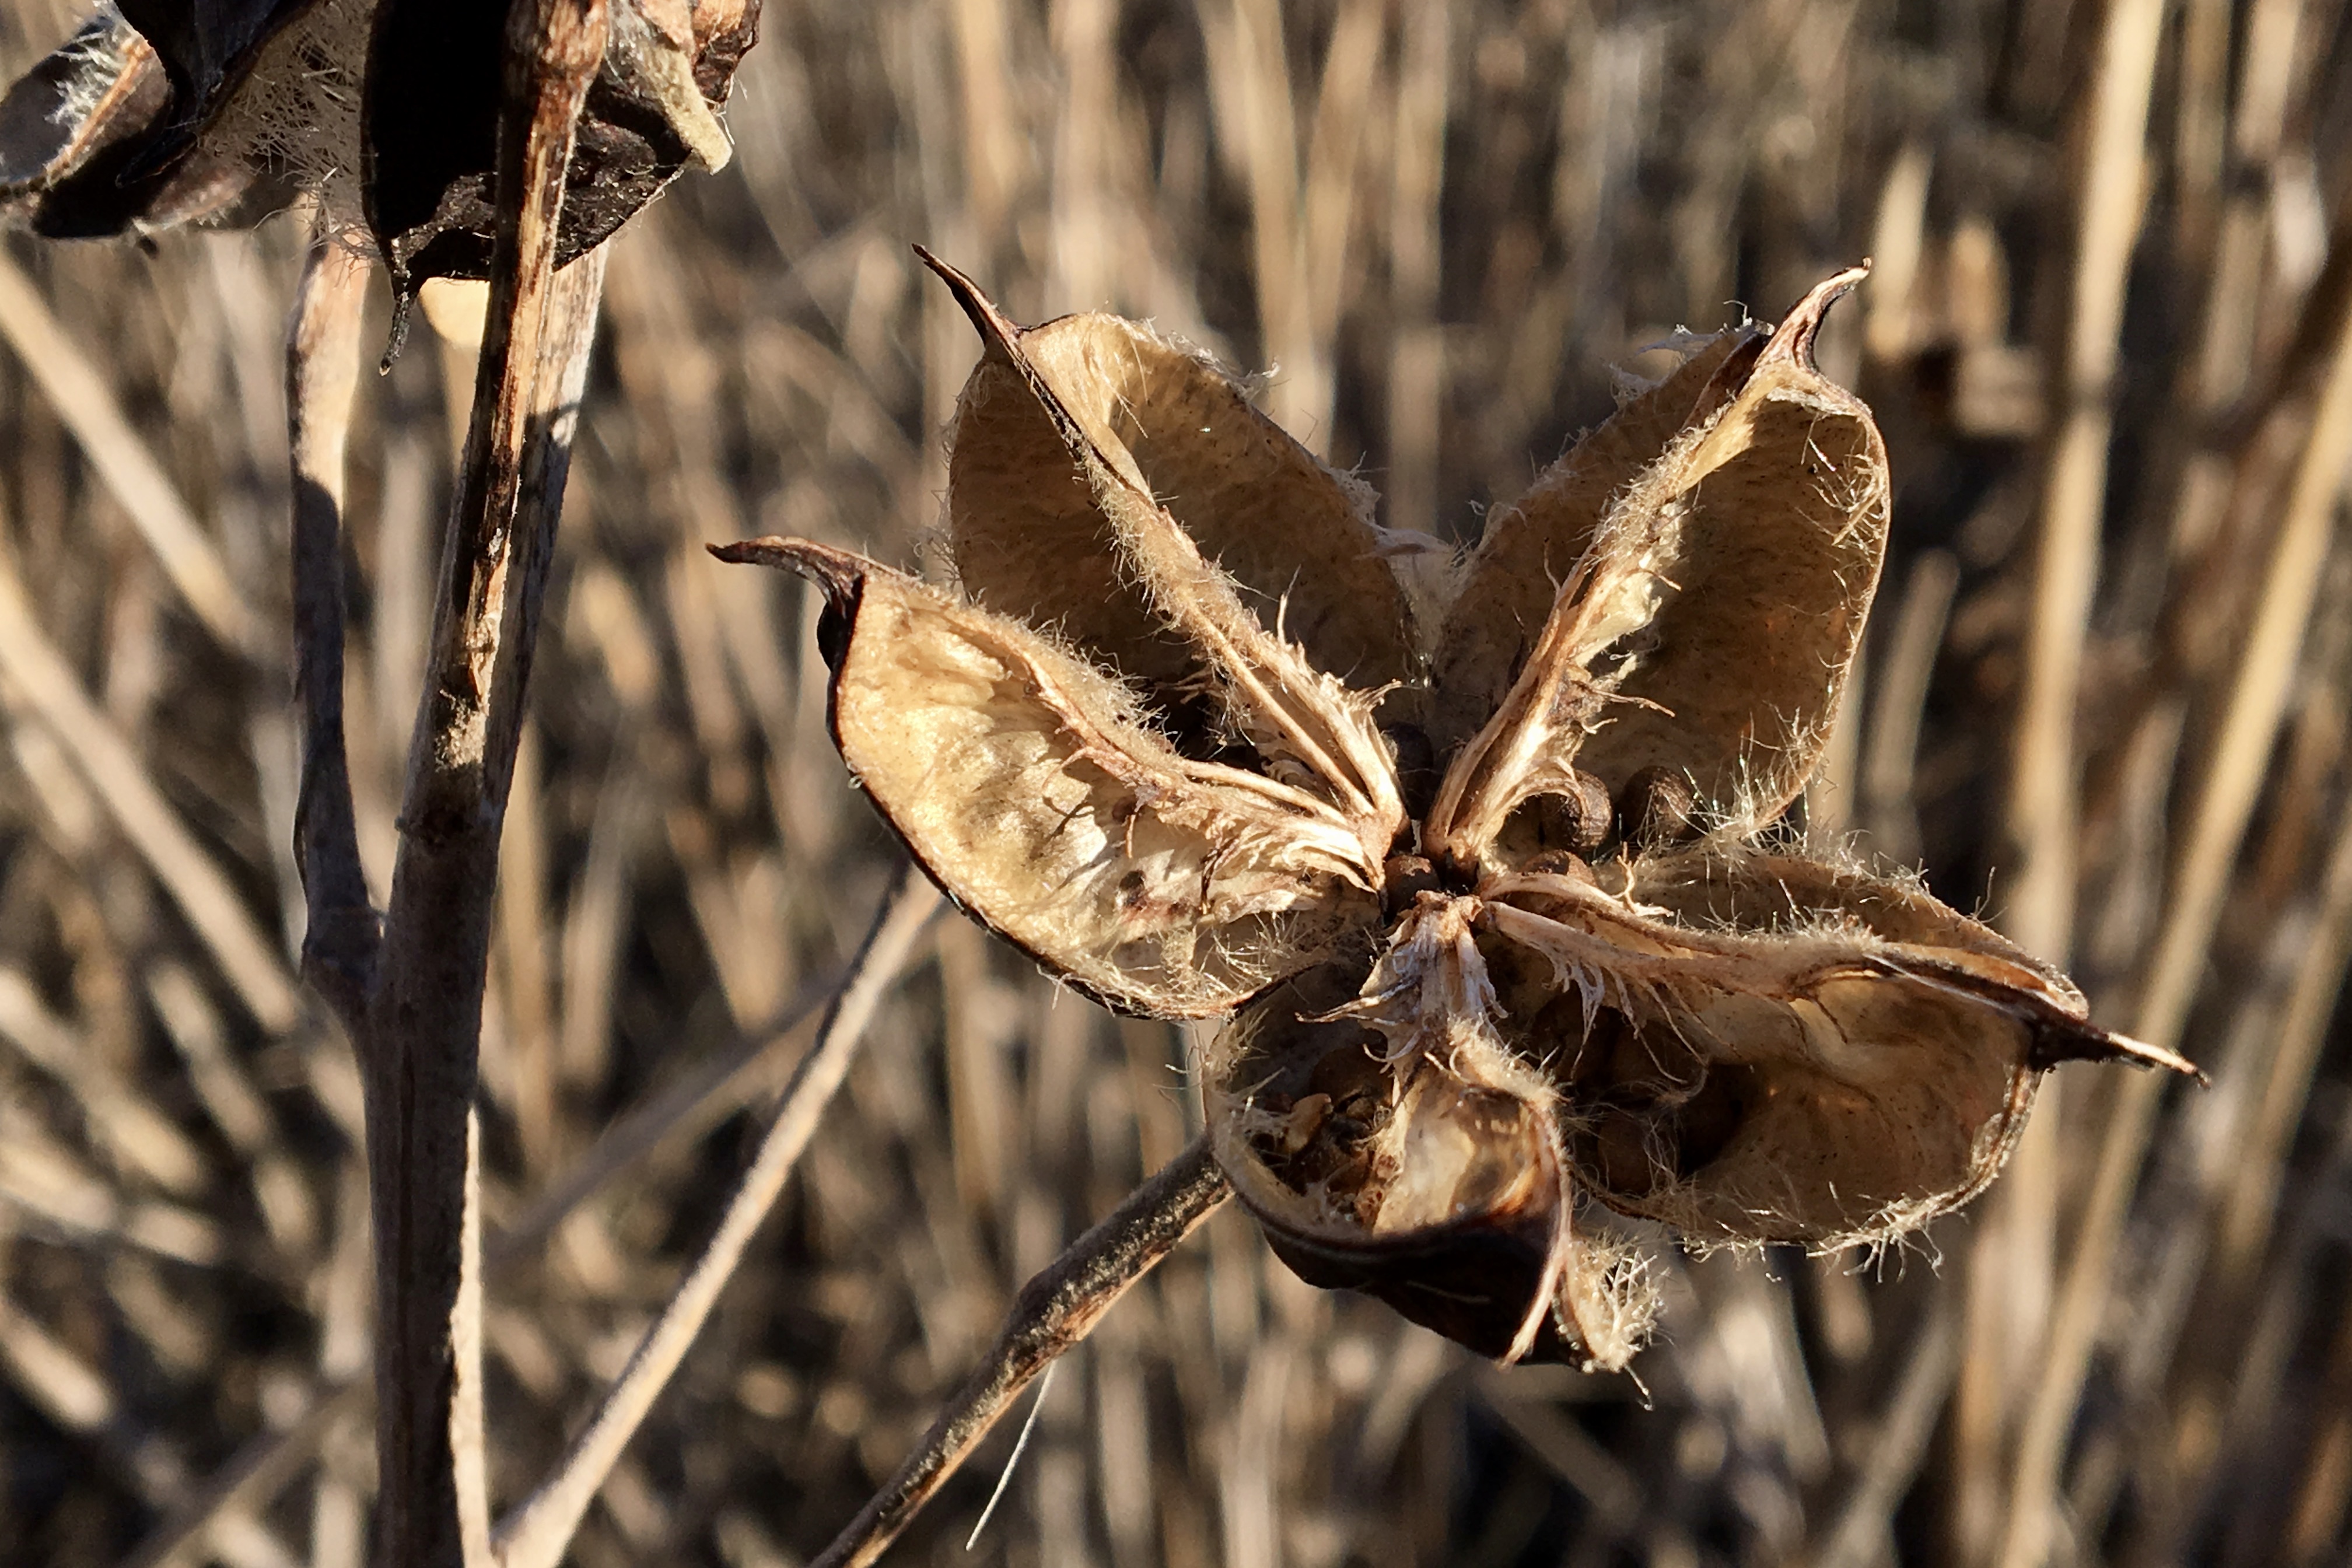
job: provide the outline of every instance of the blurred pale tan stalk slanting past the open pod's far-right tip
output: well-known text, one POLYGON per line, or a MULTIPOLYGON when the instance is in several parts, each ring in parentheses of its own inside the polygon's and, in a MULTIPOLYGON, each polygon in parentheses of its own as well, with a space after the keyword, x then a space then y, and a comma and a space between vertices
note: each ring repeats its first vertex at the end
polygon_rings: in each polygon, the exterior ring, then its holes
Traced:
MULTIPOLYGON (((2336 508, 2352 465, 2352 310, 2340 308, 2336 348, 2296 463, 2286 512, 2270 545, 2256 618, 2239 646, 2213 750, 2197 785, 2190 830, 2166 889, 2164 926, 2145 969, 2136 1034, 2154 1046, 2180 1041, 2204 980, 2204 957, 2230 889, 2272 743, 2296 679, 2296 651, 2310 628, 2336 508)), ((2004 1568, 2037 1568, 2049 1552, 2058 1469, 2074 1420, 2098 1324, 2107 1309, 2114 1253, 2154 1131, 2164 1081, 2131 1077, 2117 1088, 2084 1204, 2072 1267, 2058 1293, 2049 1352, 2018 1441, 2004 1568)))

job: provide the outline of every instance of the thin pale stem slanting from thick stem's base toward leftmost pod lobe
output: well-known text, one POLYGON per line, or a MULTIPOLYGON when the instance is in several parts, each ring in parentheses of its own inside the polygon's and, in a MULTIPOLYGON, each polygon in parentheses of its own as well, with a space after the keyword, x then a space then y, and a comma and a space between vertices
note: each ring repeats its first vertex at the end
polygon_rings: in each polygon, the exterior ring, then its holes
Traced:
POLYGON ((621 1458, 621 1448, 628 1446, 654 1399, 670 1382, 670 1373, 677 1371, 703 1319, 717 1305, 720 1291, 734 1276, 736 1262, 743 1260, 753 1232, 776 1206, 783 1182, 800 1164, 809 1138, 816 1135, 818 1117, 833 1103, 842 1079, 849 1077, 849 1063, 866 1037, 866 1025, 873 1023, 875 1009, 896 983, 915 938, 922 936, 938 905, 938 889, 913 865, 901 867, 866 947, 851 964, 849 985, 826 1016, 816 1048, 802 1058, 776 1107, 776 1119, 760 1140, 750 1171, 743 1173, 743 1182, 727 1201, 717 1234, 687 1269, 677 1291, 670 1293, 654 1326, 637 1340, 621 1378, 607 1389, 604 1403, 597 1406, 588 1427, 572 1441, 562 1465, 499 1528, 501 1568, 555 1568, 562 1561, 588 1502, 604 1486, 604 1476, 612 1474, 614 1460, 621 1458))

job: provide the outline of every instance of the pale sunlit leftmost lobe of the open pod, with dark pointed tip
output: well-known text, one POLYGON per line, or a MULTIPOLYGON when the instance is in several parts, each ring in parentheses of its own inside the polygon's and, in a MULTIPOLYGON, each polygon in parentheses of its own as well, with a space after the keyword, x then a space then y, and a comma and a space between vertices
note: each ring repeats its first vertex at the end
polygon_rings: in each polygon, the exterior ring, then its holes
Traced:
POLYGON ((1336 813, 1176 755, 1049 637, 823 545, 720 557, 826 590, 851 773, 960 905, 1101 1001, 1221 1013, 1378 917, 1336 813))

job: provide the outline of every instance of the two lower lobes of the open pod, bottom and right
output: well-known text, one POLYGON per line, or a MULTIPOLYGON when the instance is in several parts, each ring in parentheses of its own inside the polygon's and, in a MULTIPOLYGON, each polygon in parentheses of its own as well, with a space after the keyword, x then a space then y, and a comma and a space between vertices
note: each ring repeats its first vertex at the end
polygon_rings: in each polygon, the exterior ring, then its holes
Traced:
POLYGON ((1376 959, 1225 1030, 1218 1157, 1303 1279, 1484 1354, 1623 1366, 1651 1305, 1583 1201, 1698 1241, 1879 1241, 1992 1180, 2053 1060, 2190 1070, 1915 889, 1698 851, 1637 872, 1423 896, 1376 959), (1376 1112, 1270 1135, 1263 1095, 1334 1065, 1376 1074, 1376 1112))

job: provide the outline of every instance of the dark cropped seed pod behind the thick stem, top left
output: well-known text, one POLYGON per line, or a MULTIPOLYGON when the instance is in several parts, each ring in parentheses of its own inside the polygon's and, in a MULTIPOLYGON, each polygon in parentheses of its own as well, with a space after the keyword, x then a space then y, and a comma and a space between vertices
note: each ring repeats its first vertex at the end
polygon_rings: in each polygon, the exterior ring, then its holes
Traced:
MULTIPOLYGON (((480 0, 125 0, 0 99, 0 209, 52 237, 148 235, 303 190, 402 292, 487 277, 503 31, 480 0)), ((612 7, 557 266, 729 160, 715 108, 757 31, 760 0, 612 7)))

